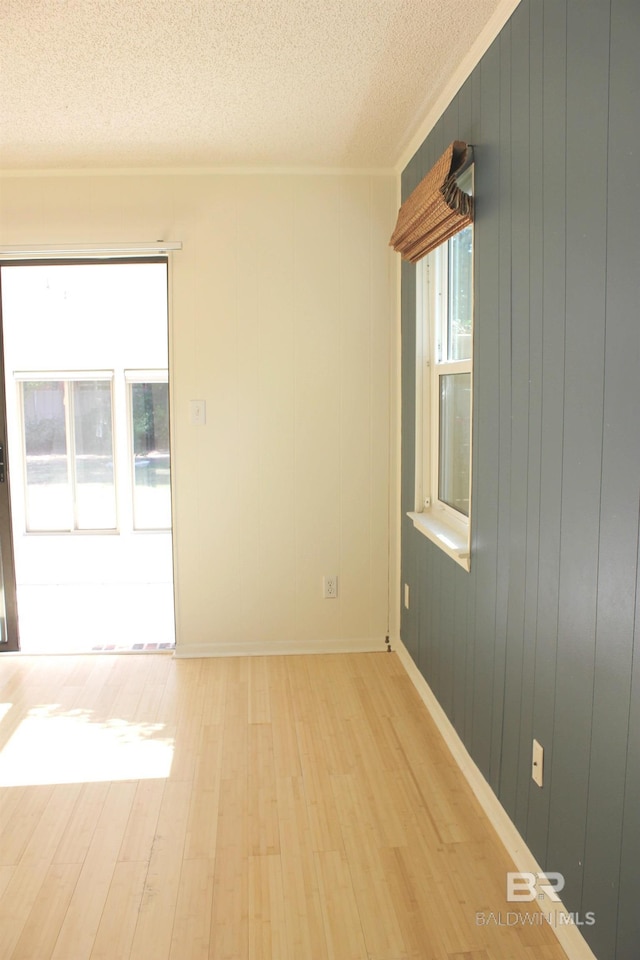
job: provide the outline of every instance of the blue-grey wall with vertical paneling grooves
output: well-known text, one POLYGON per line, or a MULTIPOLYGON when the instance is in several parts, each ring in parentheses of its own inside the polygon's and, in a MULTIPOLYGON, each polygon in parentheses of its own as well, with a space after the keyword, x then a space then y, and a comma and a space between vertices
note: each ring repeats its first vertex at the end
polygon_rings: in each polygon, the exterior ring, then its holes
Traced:
POLYGON ((471 571, 406 516, 403 264, 402 639, 601 960, 640 956, 638 49, 637 0, 522 0, 402 177, 474 145, 471 571))

